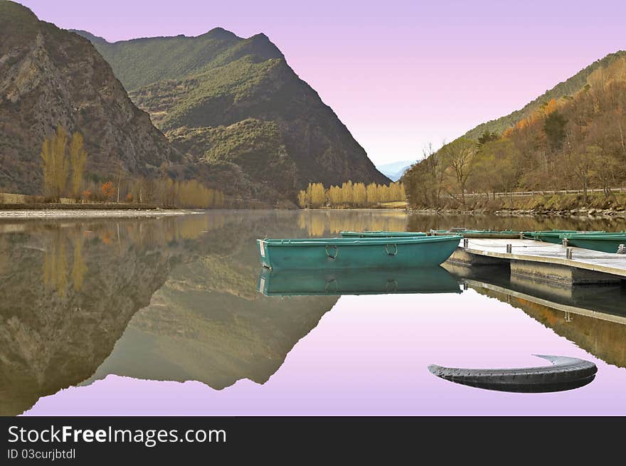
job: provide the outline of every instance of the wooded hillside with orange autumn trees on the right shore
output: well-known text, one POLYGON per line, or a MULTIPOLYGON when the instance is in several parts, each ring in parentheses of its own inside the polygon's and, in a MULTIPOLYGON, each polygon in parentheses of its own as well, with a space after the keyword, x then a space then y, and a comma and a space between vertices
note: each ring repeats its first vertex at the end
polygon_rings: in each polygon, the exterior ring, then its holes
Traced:
POLYGON ((484 131, 476 139, 473 129, 411 167, 403 177, 411 205, 467 206, 470 192, 554 189, 579 189, 587 204, 590 187, 616 202, 610 189, 626 182, 626 52, 477 128, 484 131))

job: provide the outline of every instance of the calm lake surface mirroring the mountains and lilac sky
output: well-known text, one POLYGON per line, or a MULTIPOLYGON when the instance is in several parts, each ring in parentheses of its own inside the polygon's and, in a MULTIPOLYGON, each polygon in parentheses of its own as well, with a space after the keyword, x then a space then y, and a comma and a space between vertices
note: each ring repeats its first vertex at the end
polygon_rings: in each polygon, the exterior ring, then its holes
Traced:
POLYGON ((397 211, 0 223, 0 415, 626 414, 623 287, 450 265, 351 275, 383 294, 336 295, 341 276, 306 296, 260 280, 256 238, 458 226, 626 229, 397 211), (598 376, 523 394, 427 369, 543 364, 532 354, 589 359, 598 376))

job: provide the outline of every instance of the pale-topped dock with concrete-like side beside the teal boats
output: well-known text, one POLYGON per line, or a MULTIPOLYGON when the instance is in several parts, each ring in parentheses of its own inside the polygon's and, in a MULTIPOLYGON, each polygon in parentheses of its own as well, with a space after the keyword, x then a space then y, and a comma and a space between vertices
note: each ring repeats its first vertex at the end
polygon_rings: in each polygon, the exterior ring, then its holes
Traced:
POLYGON ((534 240, 465 238, 448 259, 471 267, 508 267, 514 275, 563 286, 626 280, 626 254, 600 253, 534 240))

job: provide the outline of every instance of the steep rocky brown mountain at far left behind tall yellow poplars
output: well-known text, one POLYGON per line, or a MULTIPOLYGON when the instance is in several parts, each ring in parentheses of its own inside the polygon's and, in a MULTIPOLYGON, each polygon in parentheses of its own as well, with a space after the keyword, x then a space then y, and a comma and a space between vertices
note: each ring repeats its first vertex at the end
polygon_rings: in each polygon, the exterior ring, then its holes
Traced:
POLYGON ((83 133, 93 176, 180 159, 90 41, 0 0, 0 192, 41 194, 41 144, 58 123, 83 133))

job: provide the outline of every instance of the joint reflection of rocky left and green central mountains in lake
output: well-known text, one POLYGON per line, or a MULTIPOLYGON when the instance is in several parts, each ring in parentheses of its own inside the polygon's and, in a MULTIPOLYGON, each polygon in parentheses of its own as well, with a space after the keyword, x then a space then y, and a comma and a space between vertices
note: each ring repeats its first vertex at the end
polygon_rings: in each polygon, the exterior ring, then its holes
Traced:
POLYGON ((337 299, 256 292, 258 232, 304 234, 282 216, 5 224, 0 413, 109 373, 266 381, 337 299))

